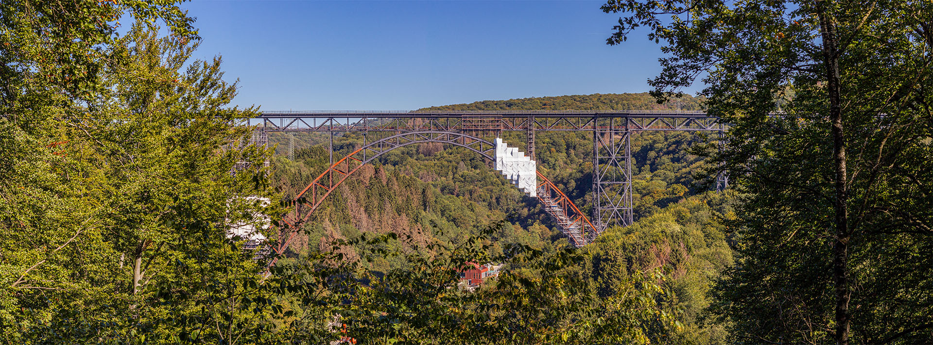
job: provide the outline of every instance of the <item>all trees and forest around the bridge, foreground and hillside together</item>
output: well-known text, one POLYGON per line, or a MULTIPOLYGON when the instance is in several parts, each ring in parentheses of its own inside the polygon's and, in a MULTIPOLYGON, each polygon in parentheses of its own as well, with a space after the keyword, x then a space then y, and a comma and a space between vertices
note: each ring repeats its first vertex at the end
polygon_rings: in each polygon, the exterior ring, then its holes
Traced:
MULTIPOLYGON (((661 45, 649 92, 416 111, 728 123, 724 141, 632 136, 633 225, 576 249, 489 162, 410 145, 274 253, 326 138, 255 145, 258 107, 231 105, 220 57, 192 59, 201 37, 174 1, 0 2, 0 343, 933 342, 933 4, 602 10, 621 16, 607 44, 661 45), (731 187, 715 192, 720 171, 731 187), (460 282, 482 263, 503 266, 460 282)), ((361 135, 337 135, 335 155, 361 135)), ((587 214, 590 155, 589 135, 536 138, 539 171, 587 214)))

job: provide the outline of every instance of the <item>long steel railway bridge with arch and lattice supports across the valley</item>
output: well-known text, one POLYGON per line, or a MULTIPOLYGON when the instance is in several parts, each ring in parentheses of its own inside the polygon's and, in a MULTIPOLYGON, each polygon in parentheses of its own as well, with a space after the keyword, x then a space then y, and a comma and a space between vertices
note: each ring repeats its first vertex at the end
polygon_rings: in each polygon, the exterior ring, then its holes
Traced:
MULTIPOLYGON (((272 248, 285 252, 301 224, 323 200, 363 165, 398 147, 422 143, 459 146, 492 160, 493 140, 504 131, 526 135, 527 154, 535 159, 536 131, 592 132, 592 214, 579 211, 572 200, 541 173, 537 199, 575 246, 592 242, 613 225, 629 226, 632 218, 632 149, 636 131, 712 131, 721 138, 726 125, 705 113, 649 112, 264 112, 253 141, 268 144, 269 132, 317 132, 327 136, 329 167, 299 192, 295 206, 283 217, 282 241, 272 248), (363 143, 349 155, 334 156, 334 135, 358 132, 363 143), (335 160, 336 159, 336 160, 335 160)), ((717 190, 728 185, 719 173, 717 190)))

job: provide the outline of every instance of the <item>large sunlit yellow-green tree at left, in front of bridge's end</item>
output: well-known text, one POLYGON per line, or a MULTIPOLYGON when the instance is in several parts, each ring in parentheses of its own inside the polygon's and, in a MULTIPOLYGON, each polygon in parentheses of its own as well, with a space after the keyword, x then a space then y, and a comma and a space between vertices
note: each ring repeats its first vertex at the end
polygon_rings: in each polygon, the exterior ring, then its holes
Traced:
POLYGON ((264 326, 271 304, 248 299, 264 292, 246 296, 263 267, 227 230, 279 213, 251 199, 272 195, 269 152, 244 145, 234 123, 255 111, 226 106, 219 59, 182 70, 195 47, 135 25, 93 100, 2 119, 0 341, 234 343, 264 326))

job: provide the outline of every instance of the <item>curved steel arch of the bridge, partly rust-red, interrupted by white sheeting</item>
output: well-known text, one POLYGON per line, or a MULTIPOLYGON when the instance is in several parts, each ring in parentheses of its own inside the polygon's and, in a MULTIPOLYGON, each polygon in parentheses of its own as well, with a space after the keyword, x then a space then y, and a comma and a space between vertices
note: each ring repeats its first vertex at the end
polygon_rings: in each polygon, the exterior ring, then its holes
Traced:
MULTIPOLYGON (((480 137, 456 131, 410 131, 391 135, 364 145, 331 164, 324 173, 319 174, 311 184, 295 196, 294 207, 282 219, 287 228, 280 227, 280 234, 283 232, 282 230, 288 232, 287 239, 272 249, 279 255, 285 253, 285 249, 295 238, 301 225, 321 206, 327 196, 363 165, 396 148, 424 143, 465 147, 480 154, 484 159, 494 159, 492 154, 495 145, 493 143, 480 137)), ((581 247, 587 242, 591 242, 599 234, 599 229, 593 227, 589 218, 580 212, 577 205, 567 198, 564 192, 551 183, 547 177, 538 172, 537 178, 537 199, 545 206, 545 211, 555 218, 558 227, 567 235, 571 244, 581 247)))

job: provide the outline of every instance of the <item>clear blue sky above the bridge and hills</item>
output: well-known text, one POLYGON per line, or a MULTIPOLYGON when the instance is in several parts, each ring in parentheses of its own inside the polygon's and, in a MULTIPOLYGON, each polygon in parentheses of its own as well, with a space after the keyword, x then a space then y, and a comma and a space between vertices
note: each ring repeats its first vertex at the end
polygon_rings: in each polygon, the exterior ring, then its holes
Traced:
POLYGON ((642 92, 660 71, 644 34, 606 45, 600 1, 184 3, 200 59, 262 110, 412 110, 566 94, 642 92))

